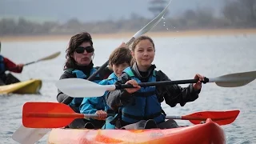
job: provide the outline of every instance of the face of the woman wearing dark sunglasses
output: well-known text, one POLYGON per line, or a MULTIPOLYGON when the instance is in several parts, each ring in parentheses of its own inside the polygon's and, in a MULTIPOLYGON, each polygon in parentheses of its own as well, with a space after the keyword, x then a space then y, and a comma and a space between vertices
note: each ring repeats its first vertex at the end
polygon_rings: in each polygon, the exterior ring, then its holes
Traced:
MULTIPOLYGON (((90 42, 82 42, 82 44, 80 46, 78 46, 78 47, 80 47, 79 51, 81 51, 81 47, 85 48, 85 47, 88 47, 88 46, 91 46, 90 42)), ((78 65, 88 66, 90 64, 91 60, 92 60, 92 56, 94 54, 94 51, 89 50, 87 52, 87 50, 84 50, 81 54, 79 54, 77 52, 78 47, 75 48, 74 54, 72 55, 75 62, 77 62, 78 65)))

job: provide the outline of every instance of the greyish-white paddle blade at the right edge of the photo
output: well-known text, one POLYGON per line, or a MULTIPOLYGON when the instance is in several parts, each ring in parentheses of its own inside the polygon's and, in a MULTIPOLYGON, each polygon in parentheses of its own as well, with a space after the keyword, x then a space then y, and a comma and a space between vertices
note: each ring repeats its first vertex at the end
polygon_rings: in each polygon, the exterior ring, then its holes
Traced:
POLYGON ((254 81, 256 71, 249 71, 236 74, 226 74, 218 78, 209 78, 209 82, 215 82, 217 86, 222 87, 238 87, 245 86, 254 81))

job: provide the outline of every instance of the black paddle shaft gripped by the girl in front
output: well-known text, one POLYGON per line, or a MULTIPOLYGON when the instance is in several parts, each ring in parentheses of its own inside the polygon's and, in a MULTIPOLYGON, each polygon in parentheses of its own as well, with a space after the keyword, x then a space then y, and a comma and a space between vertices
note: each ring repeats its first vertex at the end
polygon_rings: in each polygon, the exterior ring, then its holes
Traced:
MULTIPOLYGON (((161 82, 142 82, 138 83, 138 86, 146 87, 146 86, 161 86, 161 85, 175 85, 175 84, 187 84, 187 83, 196 83, 199 79, 187 79, 187 80, 178 80, 178 81, 161 81, 161 82)), ((209 82, 208 78, 204 78, 202 83, 209 82)), ((116 89, 125 89, 125 88, 134 88, 134 86, 130 84, 122 84, 115 85, 116 89)))

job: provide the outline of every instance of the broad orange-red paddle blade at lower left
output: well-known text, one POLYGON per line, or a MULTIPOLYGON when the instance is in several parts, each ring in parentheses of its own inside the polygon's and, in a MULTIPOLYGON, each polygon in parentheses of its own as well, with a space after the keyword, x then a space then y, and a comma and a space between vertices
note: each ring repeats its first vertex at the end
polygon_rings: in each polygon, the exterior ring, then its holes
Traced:
POLYGON ((76 114, 70 108, 62 103, 54 102, 26 102, 22 111, 22 124, 29 128, 58 128, 67 126, 74 118, 34 118, 30 114, 76 114))

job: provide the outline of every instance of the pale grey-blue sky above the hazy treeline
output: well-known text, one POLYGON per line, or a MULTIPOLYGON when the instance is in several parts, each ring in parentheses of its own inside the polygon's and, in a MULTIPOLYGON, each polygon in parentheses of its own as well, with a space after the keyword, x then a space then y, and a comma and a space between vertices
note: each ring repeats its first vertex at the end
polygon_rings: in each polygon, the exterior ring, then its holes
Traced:
MULTIPOLYGON (((38 21, 66 22, 78 18, 81 22, 97 22, 130 18, 132 13, 153 18, 148 7, 151 0, 0 0, 0 18, 29 18, 38 21)), ((168 0, 167 0, 168 1, 168 0)), ((226 0, 172 0, 169 16, 185 10, 209 7, 214 14, 226 0)))

